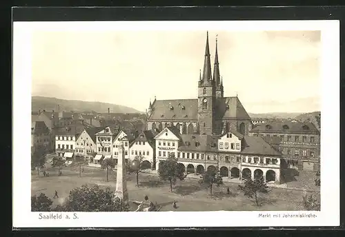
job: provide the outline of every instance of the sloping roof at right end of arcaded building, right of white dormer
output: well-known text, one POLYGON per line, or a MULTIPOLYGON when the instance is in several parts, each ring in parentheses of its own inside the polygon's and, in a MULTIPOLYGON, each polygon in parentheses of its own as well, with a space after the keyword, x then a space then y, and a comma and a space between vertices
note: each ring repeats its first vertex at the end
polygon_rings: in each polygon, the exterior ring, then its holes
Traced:
POLYGON ((257 154, 263 156, 282 156, 260 136, 244 136, 242 154, 257 154))

